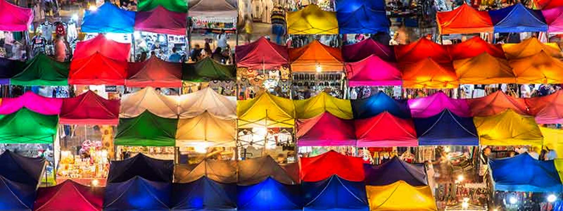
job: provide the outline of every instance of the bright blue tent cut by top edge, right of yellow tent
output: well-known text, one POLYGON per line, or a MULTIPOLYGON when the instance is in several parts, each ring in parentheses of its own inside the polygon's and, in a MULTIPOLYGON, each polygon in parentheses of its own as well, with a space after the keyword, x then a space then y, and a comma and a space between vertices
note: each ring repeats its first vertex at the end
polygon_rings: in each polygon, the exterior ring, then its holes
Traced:
POLYGON ((337 0, 336 19, 341 34, 388 33, 391 24, 383 0, 337 0))

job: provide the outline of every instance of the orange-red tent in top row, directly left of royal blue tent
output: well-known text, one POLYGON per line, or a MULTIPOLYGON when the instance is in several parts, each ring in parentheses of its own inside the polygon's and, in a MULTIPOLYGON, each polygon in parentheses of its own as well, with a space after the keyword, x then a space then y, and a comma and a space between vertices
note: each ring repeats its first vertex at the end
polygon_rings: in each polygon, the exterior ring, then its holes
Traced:
POLYGON ((452 11, 436 13, 440 34, 493 32, 493 21, 486 11, 477 11, 463 3, 452 11))

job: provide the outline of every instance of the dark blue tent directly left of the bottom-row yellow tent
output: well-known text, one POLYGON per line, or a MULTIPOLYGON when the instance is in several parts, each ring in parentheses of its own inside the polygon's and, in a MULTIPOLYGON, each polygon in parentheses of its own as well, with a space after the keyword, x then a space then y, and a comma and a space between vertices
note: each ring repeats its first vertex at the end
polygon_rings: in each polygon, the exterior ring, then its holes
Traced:
POLYGON ((333 175, 319 182, 301 183, 303 210, 369 211, 364 182, 333 175))

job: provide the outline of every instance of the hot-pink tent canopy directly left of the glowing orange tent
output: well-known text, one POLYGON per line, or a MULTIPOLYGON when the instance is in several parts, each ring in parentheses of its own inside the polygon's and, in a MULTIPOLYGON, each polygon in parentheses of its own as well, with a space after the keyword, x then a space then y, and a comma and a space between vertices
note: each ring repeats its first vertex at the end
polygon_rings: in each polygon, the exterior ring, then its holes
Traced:
POLYGON ((401 86, 401 71, 396 64, 371 55, 358 62, 345 64, 346 78, 350 87, 401 86), (376 69, 377 67, 377 69, 376 69))

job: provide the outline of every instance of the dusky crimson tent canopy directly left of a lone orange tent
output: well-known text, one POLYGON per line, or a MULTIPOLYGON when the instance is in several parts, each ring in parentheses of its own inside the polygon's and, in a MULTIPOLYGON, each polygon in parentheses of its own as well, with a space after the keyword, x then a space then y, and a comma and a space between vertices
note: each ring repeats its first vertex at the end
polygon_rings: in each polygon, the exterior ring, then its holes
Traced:
POLYGON ((289 64, 288 49, 268 41, 265 37, 257 41, 236 46, 236 66, 252 70, 276 69, 289 64))

